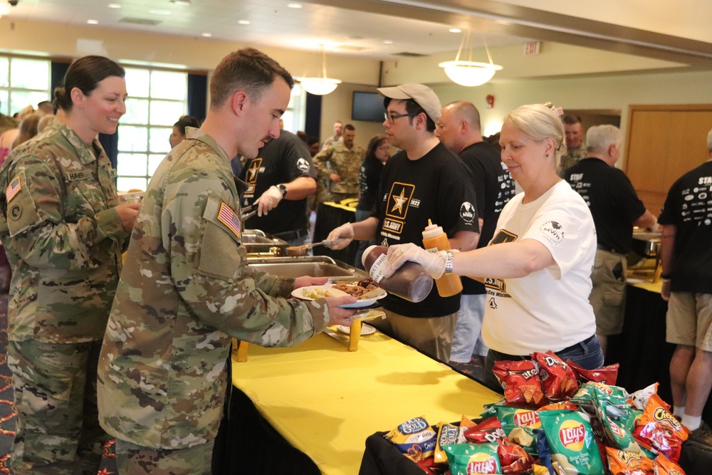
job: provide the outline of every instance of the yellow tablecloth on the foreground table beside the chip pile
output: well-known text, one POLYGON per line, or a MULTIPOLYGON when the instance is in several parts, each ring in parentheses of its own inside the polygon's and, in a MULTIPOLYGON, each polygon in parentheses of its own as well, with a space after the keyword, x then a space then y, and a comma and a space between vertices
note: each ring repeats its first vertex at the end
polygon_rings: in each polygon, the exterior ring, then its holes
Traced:
POLYGON ((323 474, 355 475, 368 436, 412 417, 477 417, 500 397, 392 338, 362 336, 355 353, 320 334, 295 348, 250 346, 233 384, 323 474))

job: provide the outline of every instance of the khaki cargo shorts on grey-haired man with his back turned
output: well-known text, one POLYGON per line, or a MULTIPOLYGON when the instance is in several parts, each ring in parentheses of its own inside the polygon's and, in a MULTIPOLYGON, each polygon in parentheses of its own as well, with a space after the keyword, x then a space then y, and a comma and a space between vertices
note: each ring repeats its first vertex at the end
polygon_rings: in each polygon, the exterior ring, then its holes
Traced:
POLYGON ((626 259, 621 254, 598 249, 591 273, 593 288, 588 300, 596 315, 597 335, 623 331, 626 259))

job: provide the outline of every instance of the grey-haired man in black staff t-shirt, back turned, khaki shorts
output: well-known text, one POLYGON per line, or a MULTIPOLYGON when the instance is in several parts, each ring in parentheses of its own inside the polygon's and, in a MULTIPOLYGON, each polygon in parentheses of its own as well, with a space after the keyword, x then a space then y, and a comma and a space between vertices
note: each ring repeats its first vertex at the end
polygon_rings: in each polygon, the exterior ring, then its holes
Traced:
POLYGON ((607 336, 623 331, 627 262, 633 226, 655 226, 628 177, 614 167, 621 135, 613 125, 595 125, 586 133, 588 156, 566 170, 565 179, 584 199, 596 225, 598 250, 591 273, 589 300, 596 334, 606 354, 607 336))

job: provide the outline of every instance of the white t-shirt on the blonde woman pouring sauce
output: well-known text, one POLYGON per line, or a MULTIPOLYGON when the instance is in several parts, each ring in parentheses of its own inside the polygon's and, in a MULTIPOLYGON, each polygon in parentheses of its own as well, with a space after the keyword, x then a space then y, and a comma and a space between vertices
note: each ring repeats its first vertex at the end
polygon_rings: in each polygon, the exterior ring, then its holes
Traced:
POLYGON ((509 355, 557 352, 596 333, 588 301, 596 230, 586 203, 567 182, 535 202, 522 204, 523 198, 518 194, 506 204, 490 245, 534 239, 556 263, 522 278, 486 279, 482 338, 509 355))

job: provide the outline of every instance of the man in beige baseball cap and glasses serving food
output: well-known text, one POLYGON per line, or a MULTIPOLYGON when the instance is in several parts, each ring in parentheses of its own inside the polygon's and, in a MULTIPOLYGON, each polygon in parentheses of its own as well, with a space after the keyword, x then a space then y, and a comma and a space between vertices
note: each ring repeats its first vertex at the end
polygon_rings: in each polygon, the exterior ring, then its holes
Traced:
MULTIPOLYGON (((463 162, 435 136, 440 100, 425 85, 403 84, 379 88, 387 110, 383 125, 391 145, 401 149, 386 164, 371 216, 337 227, 328 239, 373 240, 382 246, 414 243, 422 246, 422 232, 430 219, 442 226, 451 249, 474 249, 479 237, 475 194, 463 162)), ((388 295, 380 301, 386 320, 375 322, 431 357, 448 362, 460 294, 443 298, 436 286, 420 303, 388 295)))

